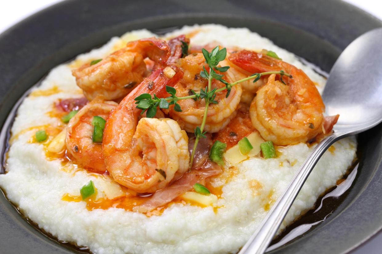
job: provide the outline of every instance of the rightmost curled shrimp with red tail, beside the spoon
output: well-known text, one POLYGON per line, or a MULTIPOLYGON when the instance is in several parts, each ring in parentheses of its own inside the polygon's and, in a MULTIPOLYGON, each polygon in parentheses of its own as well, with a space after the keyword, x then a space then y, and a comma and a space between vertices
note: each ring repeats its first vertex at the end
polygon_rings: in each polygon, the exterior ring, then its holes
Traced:
POLYGON ((243 50, 235 54, 231 60, 249 72, 283 70, 293 76, 283 77, 287 84, 284 85, 275 74, 270 75, 251 103, 252 124, 265 140, 291 145, 307 142, 322 133, 324 102, 302 70, 261 53, 243 50))

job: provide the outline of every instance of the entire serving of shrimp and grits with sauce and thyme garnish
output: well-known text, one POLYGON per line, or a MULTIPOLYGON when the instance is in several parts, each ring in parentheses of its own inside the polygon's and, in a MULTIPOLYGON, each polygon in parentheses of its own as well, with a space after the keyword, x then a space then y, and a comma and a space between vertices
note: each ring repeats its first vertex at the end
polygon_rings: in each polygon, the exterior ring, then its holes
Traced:
MULTIPOLYGON (((332 132, 325 78, 244 28, 128 32, 50 71, 18 109, 0 187, 91 253, 237 253, 332 132)), ((356 158, 325 152, 280 232, 356 158)))

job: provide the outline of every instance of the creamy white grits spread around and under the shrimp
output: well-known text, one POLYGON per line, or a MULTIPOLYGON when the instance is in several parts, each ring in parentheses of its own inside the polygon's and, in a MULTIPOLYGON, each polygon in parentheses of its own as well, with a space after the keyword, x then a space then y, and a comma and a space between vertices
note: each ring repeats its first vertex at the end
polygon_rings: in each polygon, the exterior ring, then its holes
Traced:
MULTIPOLYGON (((191 33, 194 34, 191 43, 197 45, 217 41, 227 47, 235 45, 251 50, 265 48, 275 51, 284 61, 303 69, 317 82, 319 91, 324 88, 325 79, 301 64, 292 53, 245 28, 232 29, 212 24, 186 26, 165 37, 191 33)), ((148 217, 113 207, 88 211, 85 202, 63 201, 65 193, 79 195, 79 189, 90 179, 99 195, 107 195, 104 186, 105 183, 110 184, 110 179, 83 170, 76 171, 58 160, 47 160, 44 145, 29 142, 36 130, 28 131, 28 128, 60 125, 59 119, 47 115, 53 102, 58 98, 82 96, 71 69, 84 62, 104 58, 129 40, 149 36, 152 36, 149 31, 139 30, 121 38, 114 37, 101 48, 81 54, 73 62, 59 65, 49 73, 34 91, 55 93, 32 93, 18 109, 11 129, 13 136, 17 136, 11 142, 8 173, 0 175, 0 186, 8 199, 40 228, 59 240, 88 246, 97 254, 235 253, 264 219, 312 147, 291 145, 280 148, 277 158, 250 158, 236 165, 238 170, 222 188, 215 208, 174 203, 160 216, 148 217)), ((318 196, 335 185, 351 166, 356 156, 355 138, 343 139, 333 146, 335 149, 327 151, 317 163, 281 229, 312 208, 318 196)))

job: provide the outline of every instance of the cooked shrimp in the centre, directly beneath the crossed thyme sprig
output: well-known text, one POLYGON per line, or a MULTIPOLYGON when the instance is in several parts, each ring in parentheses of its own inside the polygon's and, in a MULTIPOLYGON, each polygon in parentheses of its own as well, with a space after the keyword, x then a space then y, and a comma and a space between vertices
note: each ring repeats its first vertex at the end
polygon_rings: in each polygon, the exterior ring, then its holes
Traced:
MULTIPOLYGON (((185 58, 181 58, 179 61, 180 68, 185 74, 183 79, 174 86, 176 88, 176 96, 188 96, 191 90, 198 93, 202 88, 207 86, 207 80, 199 75, 205 62, 203 54, 190 54, 185 58)), ((212 89, 219 89, 224 86, 225 85, 220 81, 212 81, 212 89)), ((235 110, 240 102, 241 86, 233 86, 228 98, 225 97, 226 93, 227 91, 217 93, 215 100, 218 104, 209 105, 206 126, 204 127, 204 130, 209 133, 218 132, 235 117, 235 110)), ((176 120, 182 129, 188 132, 194 132, 194 129, 202 123, 206 105, 205 101, 184 99, 178 101, 178 104, 181 106, 182 112, 176 112, 173 107, 170 107, 170 117, 176 120)))

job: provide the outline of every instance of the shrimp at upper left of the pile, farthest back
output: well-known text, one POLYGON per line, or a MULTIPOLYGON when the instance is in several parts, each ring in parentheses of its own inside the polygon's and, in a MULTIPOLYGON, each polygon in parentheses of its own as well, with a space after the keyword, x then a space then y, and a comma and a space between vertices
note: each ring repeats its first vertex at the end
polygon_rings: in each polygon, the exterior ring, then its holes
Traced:
POLYGON ((115 100, 142 82, 147 72, 144 58, 148 57, 159 66, 164 65, 169 56, 170 48, 165 41, 147 38, 129 42, 125 48, 96 64, 84 64, 73 70, 72 75, 87 99, 102 95, 106 100, 115 100))

